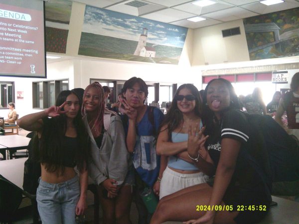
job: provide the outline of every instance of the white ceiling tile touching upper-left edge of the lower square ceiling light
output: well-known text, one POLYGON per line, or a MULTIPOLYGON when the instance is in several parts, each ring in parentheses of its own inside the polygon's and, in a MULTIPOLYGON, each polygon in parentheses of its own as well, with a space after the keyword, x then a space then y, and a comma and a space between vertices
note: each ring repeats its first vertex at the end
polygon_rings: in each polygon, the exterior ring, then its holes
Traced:
POLYGON ((141 17, 160 21, 160 22, 173 22, 184 18, 190 18, 193 16, 195 15, 188 12, 167 8, 146 15, 142 15, 141 17))

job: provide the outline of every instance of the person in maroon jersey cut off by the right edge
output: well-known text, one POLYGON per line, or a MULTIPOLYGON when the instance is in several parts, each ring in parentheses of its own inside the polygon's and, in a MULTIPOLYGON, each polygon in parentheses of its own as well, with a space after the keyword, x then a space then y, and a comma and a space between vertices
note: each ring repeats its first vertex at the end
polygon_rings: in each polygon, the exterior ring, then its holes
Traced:
POLYGON ((275 120, 284 127, 282 116, 287 112, 288 129, 290 135, 296 136, 299 139, 299 72, 297 72, 291 81, 291 91, 287 92, 279 101, 278 109, 276 111, 275 120))

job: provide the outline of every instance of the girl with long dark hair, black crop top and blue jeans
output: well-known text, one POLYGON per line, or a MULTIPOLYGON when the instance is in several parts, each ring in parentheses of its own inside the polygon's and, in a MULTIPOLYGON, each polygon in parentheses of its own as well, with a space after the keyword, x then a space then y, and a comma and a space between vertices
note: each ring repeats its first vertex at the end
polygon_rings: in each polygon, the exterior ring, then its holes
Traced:
POLYGON ((56 106, 17 121, 21 128, 38 133, 34 155, 41 177, 36 201, 43 224, 75 224, 76 215, 86 209, 88 136, 80 106, 75 92, 66 90, 58 95, 56 106))

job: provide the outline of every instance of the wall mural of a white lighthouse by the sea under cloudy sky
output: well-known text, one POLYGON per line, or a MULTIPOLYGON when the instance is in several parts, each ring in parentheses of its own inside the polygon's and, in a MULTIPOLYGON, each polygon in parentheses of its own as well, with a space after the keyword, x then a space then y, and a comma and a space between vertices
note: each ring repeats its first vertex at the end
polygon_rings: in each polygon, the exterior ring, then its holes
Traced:
POLYGON ((79 55, 178 64, 187 28, 86 5, 79 55))

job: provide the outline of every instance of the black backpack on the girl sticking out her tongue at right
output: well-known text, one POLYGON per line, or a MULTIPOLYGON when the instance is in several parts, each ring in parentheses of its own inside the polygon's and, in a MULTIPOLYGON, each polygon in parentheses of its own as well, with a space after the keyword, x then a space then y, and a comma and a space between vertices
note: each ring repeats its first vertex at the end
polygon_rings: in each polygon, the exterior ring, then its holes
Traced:
MULTIPOLYGON (((263 161, 264 164, 261 165, 249 153, 245 153, 243 156, 249 159, 253 167, 272 189, 272 194, 275 194, 273 190, 275 190, 277 183, 283 182, 285 187, 287 187, 287 183, 291 183, 292 186, 294 183, 299 183, 299 146, 297 141, 271 116, 244 114, 253 130, 254 140, 261 145, 262 152, 260 153, 266 155, 264 157, 266 161, 263 161), (262 170, 262 167, 266 167, 266 171, 265 169, 262 170)), ((294 190, 299 191, 299 188, 294 190)), ((278 194, 286 195, 283 189, 278 194)))

